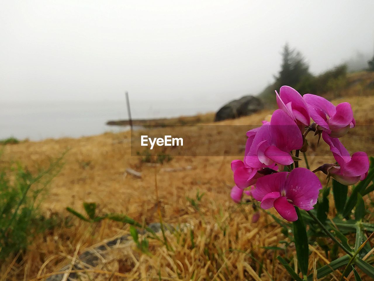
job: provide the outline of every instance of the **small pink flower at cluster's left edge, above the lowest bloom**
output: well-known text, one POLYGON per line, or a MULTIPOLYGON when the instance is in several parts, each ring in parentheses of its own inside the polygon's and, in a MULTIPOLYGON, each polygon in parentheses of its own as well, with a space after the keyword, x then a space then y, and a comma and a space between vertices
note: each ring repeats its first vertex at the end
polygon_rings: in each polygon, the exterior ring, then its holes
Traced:
POLYGON ((231 169, 234 173, 234 182, 238 188, 247 188, 249 185, 255 184, 261 176, 269 174, 274 169, 274 164, 269 169, 258 169, 246 166, 241 160, 233 160, 231 169))

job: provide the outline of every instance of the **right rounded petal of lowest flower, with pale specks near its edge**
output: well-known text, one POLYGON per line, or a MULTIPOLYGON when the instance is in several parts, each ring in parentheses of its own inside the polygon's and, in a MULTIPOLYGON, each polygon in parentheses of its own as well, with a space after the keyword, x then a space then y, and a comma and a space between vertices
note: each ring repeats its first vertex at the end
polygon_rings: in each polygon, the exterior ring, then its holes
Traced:
POLYGON ((300 209, 309 211, 317 203, 319 190, 322 188, 318 177, 308 169, 293 169, 285 184, 287 199, 300 209))

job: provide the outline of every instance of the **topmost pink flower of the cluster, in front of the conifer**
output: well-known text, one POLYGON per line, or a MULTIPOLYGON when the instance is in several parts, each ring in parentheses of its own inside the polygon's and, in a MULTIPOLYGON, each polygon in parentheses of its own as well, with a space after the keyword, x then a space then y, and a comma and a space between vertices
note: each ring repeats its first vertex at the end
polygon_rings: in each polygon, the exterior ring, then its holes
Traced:
POLYGON ((303 97, 289 86, 282 86, 279 94, 277 91, 275 93, 279 109, 285 111, 296 122, 301 132, 304 132, 304 127, 310 124, 310 114, 303 97))

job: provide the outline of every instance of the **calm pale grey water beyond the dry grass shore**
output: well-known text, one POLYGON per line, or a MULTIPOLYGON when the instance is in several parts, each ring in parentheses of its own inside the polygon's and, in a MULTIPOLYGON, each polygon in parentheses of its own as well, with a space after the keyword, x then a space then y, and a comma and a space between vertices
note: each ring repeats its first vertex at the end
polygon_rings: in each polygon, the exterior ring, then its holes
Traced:
MULTIPOLYGON (((217 111, 222 101, 131 100, 132 118, 163 118, 217 111)), ((46 138, 79 138, 128 127, 107 126, 108 120, 128 119, 120 101, 0 101, 0 139, 39 141, 46 138)))

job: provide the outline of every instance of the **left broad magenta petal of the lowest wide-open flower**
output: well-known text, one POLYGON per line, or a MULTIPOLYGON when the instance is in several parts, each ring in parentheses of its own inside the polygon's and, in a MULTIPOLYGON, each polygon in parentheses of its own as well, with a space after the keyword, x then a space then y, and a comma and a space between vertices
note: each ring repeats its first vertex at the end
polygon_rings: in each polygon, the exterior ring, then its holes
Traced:
POLYGON ((252 196, 257 201, 262 201, 264 196, 275 191, 280 192, 285 185, 288 172, 273 173, 257 179, 256 188, 252 190, 252 196))

